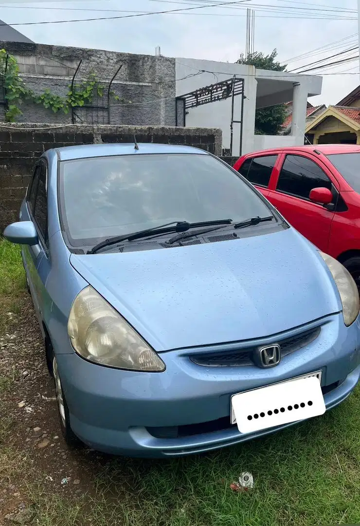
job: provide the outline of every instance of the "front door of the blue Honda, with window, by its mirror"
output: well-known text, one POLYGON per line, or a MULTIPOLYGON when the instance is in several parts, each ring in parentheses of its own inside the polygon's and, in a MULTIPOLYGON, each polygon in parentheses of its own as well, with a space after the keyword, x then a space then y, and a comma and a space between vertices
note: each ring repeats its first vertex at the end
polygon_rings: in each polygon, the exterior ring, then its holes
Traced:
POLYGON ((46 301, 45 284, 50 269, 47 234, 47 164, 45 159, 40 160, 35 167, 26 204, 28 219, 34 222, 39 240, 37 245, 24 246, 22 255, 35 310, 41 323, 44 302, 46 301))

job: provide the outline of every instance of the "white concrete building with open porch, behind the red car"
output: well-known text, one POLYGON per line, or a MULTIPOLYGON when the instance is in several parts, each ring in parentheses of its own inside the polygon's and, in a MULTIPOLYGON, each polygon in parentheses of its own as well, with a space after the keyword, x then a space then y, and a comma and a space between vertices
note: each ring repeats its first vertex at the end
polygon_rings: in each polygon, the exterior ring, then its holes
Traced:
MULTIPOLYGON (((360 2, 360 0, 359 0, 360 2)), ((244 79, 244 108, 242 150, 304 144, 306 100, 321 93, 322 78, 291 73, 256 70, 254 66, 176 58, 176 96, 201 87, 227 80, 233 75, 244 79), (294 101, 295 115, 291 136, 256 136, 254 134, 256 107, 266 107, 294 101)), ((230 148, 231 97, 214 103, 189 108, 186 126, 216 127, 222 130, 223 148, 230 148)), ((234 97, 234 120, 241 120, 241 95, 234 97)), ((240 154, 241 125, 233 125, 232 155, 240 154)))

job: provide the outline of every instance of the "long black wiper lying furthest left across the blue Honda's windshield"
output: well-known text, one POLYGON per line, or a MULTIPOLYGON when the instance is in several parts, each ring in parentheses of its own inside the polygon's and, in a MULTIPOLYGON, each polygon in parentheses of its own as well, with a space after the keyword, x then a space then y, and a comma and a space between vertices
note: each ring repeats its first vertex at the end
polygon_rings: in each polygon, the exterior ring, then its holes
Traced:
POLYGON ((139 239, 141 237, 151 236, 151 234, 171 234, 171 232, 184 232, 190 228, 203 227, 207 225, 230 225, 232 219, 218 219, 215 221, 201 221, 189 223, 188 221, 173 221, 171 223, 166 223, 165 225, 159 225, 153 228, 146 228, 145 230, 139 230, 138 232, 131 232, 130 234, 124 234, 123 236, 113 236, 105 241, 101 241, 90 250, 87 251, 87 254, 95 254, 101 248, 109 247, 111 245, 116 245, 121 241, 132 241, 134 239, 139 239))

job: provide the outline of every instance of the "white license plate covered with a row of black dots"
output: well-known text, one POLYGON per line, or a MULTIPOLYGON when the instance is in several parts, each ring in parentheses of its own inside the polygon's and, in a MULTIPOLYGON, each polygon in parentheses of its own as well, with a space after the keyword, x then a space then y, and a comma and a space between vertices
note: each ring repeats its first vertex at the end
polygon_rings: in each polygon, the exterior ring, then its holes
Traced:
POLYGON ((281 426, 325 412, 322 371, 231 397, 231 421, 241 433, 281 426))

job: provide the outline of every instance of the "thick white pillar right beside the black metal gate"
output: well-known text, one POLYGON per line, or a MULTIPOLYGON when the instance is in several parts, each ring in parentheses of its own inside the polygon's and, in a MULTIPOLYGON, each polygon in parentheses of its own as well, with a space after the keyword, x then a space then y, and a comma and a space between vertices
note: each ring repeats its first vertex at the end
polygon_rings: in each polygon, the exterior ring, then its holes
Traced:
MULTIPOLYGON (((255 110, 256 110, 256 90, 258 81, 255 78, 255 67, 248 66, 248 71, 244 77, 244 113, 242 119, 242 151, 241 155, 254 151, 254 133, 255 133, 255 110)), ((235 97, 240 99, 240 96, 235 97)), ((235 129, 234 124, 234 129, 235 129)), ((239 126, 239 125, 238 125, 239 126)), ((234 143, 235 145, 235 143, 234 143)), ((238 147, 239 148, 239 147, 238 147)), ((233 148, 232 155, 238 155, 233 148)))

